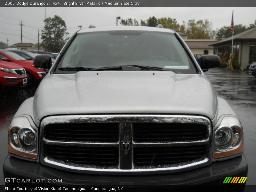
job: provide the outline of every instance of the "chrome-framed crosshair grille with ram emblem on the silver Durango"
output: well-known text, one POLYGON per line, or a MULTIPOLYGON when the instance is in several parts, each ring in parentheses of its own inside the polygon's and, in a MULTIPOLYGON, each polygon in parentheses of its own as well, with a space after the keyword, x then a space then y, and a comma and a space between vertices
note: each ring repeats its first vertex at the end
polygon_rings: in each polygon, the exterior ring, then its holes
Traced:
POLYGON ((40 161, 87 173, 185 171, 211 164, 211 129, 202 116, 51 116, 41 123, 40 161))

